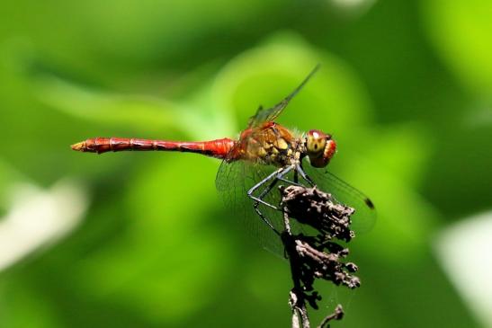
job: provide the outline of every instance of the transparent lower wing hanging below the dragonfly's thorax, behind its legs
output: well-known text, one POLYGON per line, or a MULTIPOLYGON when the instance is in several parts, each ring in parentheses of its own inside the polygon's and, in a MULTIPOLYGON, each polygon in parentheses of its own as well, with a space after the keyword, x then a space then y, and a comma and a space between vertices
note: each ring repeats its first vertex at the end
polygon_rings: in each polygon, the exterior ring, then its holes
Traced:
MULTIPOLYGON (((247 191, 276 169, 273 166, 252 164, 246 161, 233 161, 230 163, 223 161, 217 173, 216 187, 231 219, 238 219, 248 235, 254 237, 262 247, 283 257, 283 245, 279 235, 276 235, 256 214, 255 208, 253 208, 254 200, 247 196, 247 191)), ((292 176, 288 175, 287 178, 291 180, 292 176)), ((264 187, 267 184, 269 183, 266 183, 264 187)), ((266 202, 276 207, 279 206, 281 201, 278 185, 279 182, 264 198, 266 202)), ((263 188, 260 189, 260 192, 262 190, 263 188)), ((259 209, 277 231, 283 231, 283 217, 280 210, 269 208, 263 204, 259 205, 259 209)), ((294 223, 291 227, 294 233, 300 233, 302 230, 300 224, 294 223)))

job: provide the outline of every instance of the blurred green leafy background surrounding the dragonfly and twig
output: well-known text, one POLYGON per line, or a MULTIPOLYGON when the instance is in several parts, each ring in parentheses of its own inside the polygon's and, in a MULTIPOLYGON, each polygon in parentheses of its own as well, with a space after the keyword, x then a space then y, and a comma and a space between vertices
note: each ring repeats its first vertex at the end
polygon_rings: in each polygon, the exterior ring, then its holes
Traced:
POLYGON ((331 171, 379 218, 351 248, 362 288, 318 284, 313 325, 342 302, 334 327, 492 326, 468 289, 492 299, 492 246, 448 252, 485 230, 443 237, 492 208, 491 17, 486 0, 4 2, 0 326, 289 326, 287 262, 223 208, 219 161, 68 146, 237 137, 317 63, 278 121, 333 133, 331 171))

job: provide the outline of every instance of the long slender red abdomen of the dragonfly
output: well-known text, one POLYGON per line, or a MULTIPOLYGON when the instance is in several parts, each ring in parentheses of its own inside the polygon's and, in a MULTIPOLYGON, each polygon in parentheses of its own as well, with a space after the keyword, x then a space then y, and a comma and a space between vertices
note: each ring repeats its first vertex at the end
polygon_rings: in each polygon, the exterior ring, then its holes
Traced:
POLYGON ((136 137, 92 137, 72 145, 72 149, 97 154, 123 150, 161 150, 198 153, 224 158, 234 145, 235 141, 228 137, 201 142, 149 140, 136 137))

